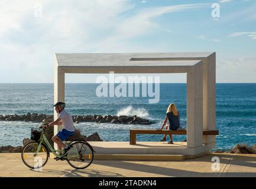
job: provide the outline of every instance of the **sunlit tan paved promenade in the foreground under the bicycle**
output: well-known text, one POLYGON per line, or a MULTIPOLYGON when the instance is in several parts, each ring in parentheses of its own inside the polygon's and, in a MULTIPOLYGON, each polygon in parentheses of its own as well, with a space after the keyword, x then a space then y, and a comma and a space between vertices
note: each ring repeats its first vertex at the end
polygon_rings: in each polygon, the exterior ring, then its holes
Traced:
POLYGON ((75 170, 66 161, 49 159, 42 171, 26 167, 20 154, 0 154, 0 177, 256 177, 256 155, 210 154, 185 161, 93 161, 75 170), (219 157, 219 171, 212 170, 219 157))

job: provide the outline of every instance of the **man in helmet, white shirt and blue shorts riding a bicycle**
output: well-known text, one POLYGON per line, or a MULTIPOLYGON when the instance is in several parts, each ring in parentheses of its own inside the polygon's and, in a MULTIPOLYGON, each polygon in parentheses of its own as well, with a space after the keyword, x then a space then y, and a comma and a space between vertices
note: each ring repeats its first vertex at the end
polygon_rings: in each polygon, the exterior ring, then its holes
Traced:
POLYGON ((66 104, 64 102, 57 102, 55 105, 55 110, 59 113, 59 116, 56 120, 47 125, 44 125, 43 128, 48 128, 53 125, 63 125, 63 129, 57 133, 57 135, 51 138, 53 142, 55 142, 59 149, 64 148, 62 156, 67 155, 67 151, 69 151, 70 146, 65 145, 62 141, 66 140, 69 136, 74 134, 74 124, 72 116, 64 110, 66 104))

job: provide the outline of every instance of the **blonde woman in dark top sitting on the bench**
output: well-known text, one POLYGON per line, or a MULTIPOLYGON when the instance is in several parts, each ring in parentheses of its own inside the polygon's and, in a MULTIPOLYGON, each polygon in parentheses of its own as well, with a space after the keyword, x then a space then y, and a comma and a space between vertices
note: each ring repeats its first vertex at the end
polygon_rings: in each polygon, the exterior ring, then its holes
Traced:
MULTIPOLYGON (((166 129, 169 128, 169 130, 176 131, 180 127, 180 113, 178 112, 176 106, 174 104, 170 104, 168 106, 168 109, 166 111, 166 119, 164 119, 163 126, 161 130, 163 129, 164 125, 166 125, 167 119, 169 120, 169 125, 166 126, 166 129)), ((161 141, 166 141, 166 135, 161 139, 161 141)), ((170 142, 168 144, 173 144, 173 136, 169 134, 170 136, 170 142)))

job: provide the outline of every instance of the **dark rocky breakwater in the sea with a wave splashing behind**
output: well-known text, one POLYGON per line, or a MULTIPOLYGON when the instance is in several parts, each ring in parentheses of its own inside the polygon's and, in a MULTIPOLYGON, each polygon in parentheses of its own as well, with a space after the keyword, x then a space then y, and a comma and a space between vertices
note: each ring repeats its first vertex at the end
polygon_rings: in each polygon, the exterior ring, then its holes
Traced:
MULTIPOLYGON (((96 122, 96 123, 115 123, 115 124, 139 124, 139 125, 151 125, 149 119, 140 118, 137 115, 134 116, 111 116, 111 115, 74 115, 73 121, 79 122, 96 122)), ((53 115, 46 115, 44 113, 27 113, 27 115, 0 115, 0 120, 5 121, 25 121, 25 122, 47 122, 53 121, 53 115)))

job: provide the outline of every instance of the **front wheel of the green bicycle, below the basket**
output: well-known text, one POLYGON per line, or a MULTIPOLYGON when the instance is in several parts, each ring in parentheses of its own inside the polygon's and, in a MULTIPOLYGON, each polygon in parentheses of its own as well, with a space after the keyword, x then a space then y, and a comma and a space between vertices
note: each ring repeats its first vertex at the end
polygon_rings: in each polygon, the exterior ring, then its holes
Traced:
POLYGON ((39 142, 30 142, 23 147, 21 158, 27 167, 38 169, 46 165, 48 154, 48 149, 44 144, 39 147, 39 142))

